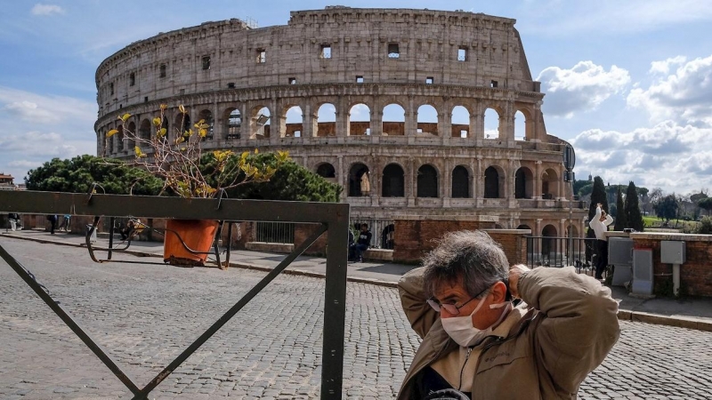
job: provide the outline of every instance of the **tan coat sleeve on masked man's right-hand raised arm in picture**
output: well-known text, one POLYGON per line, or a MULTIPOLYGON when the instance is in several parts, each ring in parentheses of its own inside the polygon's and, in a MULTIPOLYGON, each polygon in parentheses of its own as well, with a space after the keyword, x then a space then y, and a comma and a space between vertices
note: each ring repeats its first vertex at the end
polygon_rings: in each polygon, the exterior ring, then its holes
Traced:
POLYGON ((556 385, 576 393, 619 338, 611 290, 574 268, 536 268, 522 275, 519 293, 544 314, 535 352, 556 385))

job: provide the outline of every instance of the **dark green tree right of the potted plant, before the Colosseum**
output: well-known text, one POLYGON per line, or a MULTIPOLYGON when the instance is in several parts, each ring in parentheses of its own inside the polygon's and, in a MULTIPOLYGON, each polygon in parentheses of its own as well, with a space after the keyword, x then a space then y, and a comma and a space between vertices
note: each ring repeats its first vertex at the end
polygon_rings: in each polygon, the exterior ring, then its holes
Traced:
MULTIPOLYGON (((236 156, 231 157, 226 171, 231 171, 231 163, 237 161, 236 156)), ((247 157, 247 163, 256 167, 276 168, 277 162, 277 158, 272 154, 251 154, 247 157)), ((210 157, 204 156, 201 160, 201 164, 205 164, 206 173, 213 168, 212 163, 210 157)), ((341 190, 339 185, 288 160, 281 162, 269 181, 233 188, 228 190, 227 194, 230 198, 336 203, 339 201, 341 190)))

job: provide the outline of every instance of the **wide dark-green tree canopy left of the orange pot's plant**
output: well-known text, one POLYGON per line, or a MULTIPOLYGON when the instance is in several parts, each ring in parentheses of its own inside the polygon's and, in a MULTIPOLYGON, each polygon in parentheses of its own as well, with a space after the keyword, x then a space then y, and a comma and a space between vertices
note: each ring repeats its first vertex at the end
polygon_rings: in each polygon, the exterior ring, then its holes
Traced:
POLYGON ((141 168, 89 155, 53 158, 25 177, 28 190, 51 192, 88 193, 93 182, 101 185, 104 193, 114 195, 154 196, 163 188, 163 180, 141 168))

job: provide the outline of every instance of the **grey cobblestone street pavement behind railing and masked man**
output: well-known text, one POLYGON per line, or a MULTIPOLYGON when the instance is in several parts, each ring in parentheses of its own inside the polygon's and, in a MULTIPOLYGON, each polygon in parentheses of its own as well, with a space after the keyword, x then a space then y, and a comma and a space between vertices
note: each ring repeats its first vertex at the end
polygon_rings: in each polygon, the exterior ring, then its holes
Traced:
MULTIPOLYGON (((84 249, 0 238, 139 386, 263 273, 95 264, 84 249)), ((133 260, 138 260, 133 258, 133 260)), ((149 259, 150 260, 150 259, 149 259)), ((279 276, 151 398, 316 398, 324 281, 279 276)), ((347 285, 344 397, 392 398, 418 345, 397 292, 347 285)), ((710 398, 712 333, 621 322, 579 398, 710 398)), ((0 260, 0 398, 115 399, 129 391, 0 260)))

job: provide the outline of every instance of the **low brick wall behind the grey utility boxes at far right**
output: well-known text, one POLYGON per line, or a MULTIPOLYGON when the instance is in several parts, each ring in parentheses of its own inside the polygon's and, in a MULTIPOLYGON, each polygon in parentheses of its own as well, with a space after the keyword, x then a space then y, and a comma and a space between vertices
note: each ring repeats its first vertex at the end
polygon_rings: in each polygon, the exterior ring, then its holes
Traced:
MULTIPOLYGON (((633 244, 635 248, 652 249, 654 291, 671 285, 673 266, 660 262, 660 240, 634 237, 633 244)), ((686 262, 680 266, 681 290, 691 296, 712 297, 712 242, 686 241, 685 246, 686 262)))

